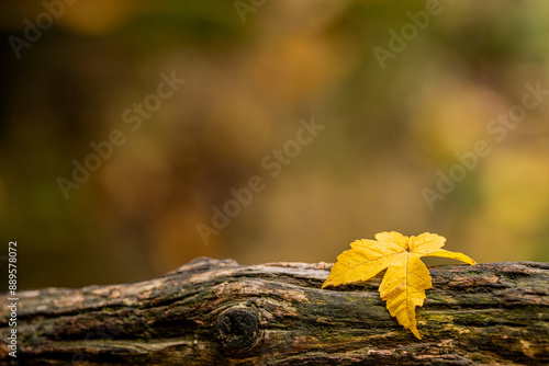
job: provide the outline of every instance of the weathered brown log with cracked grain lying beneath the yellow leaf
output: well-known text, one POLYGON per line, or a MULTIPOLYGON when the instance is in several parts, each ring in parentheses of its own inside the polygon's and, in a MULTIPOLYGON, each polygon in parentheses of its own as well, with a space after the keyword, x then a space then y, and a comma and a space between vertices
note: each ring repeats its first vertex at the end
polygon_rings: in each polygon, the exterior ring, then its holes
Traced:
MULTIPOLYGON (((417 340, 377 287, 321 289, 332 264, 198 259, 156 279, 19 294, 29 365, 544 365, 549 264, 432 267, 417 340)), ((5 304, 8 296, 1 297, 5 304)), ((9 309, 0 364, 9 365, 9 309)))

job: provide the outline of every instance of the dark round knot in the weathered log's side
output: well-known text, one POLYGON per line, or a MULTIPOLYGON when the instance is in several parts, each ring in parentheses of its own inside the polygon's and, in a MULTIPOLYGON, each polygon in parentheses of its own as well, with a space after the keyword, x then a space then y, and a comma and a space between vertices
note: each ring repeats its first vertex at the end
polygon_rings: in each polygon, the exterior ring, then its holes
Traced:
POLYGON ((217 330, 226 351, 247 352, 258 335, 257 316, 245 308, 231 308, 217 318, 217 330))

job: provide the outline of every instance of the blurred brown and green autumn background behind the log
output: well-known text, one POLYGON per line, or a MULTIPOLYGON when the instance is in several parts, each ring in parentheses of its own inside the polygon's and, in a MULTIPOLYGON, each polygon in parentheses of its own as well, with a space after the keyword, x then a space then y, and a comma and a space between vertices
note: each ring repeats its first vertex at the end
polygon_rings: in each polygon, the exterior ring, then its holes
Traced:
POLYGON ((334 262, 385 230, 439 233, 478 262, 548 261, 549 98, 501 141, 489 124, 525 83, 549 89, 549 4, 440 1, 414 34, 418 11, 425 1, 2 2, 0 271, 10 240, 19 287, 37 288, 143 281, 203 255, 334 262), (380 62, 391 30, 410 39, 380 62), (172 75, 186 82, 154 104, 172 75), (296 152, 300 119, 325 128, 296 152), (74 161, 113 130, 124 142, 76 183, 74 161), (429 205, 437 172, 480 140, 491 152, 429 205), (215 229, 212 207, 255 175, 265 188, 215 229), (66 194, 59 178, 75 182, 66 194))

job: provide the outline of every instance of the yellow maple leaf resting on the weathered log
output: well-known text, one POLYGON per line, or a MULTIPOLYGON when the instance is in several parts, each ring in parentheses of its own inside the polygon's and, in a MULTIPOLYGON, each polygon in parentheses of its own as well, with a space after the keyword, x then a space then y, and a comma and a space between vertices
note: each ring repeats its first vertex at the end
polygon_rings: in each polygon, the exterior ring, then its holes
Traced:
POLYGON ((424 232, 417 237, 405 237, 400 232, 378 232, 376 240, 357 240, 337 256, 328 278, 322 285, 348 285, 367 281, 388 270, 379 286, 381 299, 386 301, 391 317, 410 329, 419 340, 415 320, 415 307, 423 306, 425 290, 433 287, 429 271, 419 260, 422 256, 444 256, 477 264, 462 253, 441 249, 446 238, 424 232))

